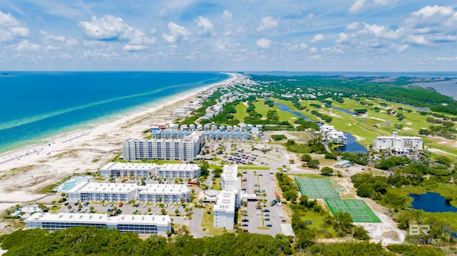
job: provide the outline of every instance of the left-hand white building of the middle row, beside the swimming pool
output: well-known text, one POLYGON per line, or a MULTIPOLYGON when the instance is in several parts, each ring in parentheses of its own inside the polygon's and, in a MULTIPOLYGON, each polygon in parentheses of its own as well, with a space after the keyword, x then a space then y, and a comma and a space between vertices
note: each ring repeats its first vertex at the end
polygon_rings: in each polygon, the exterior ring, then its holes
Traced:
POLYGON ((138 187, 132 183, 78 183, 67 191, 69 202, 123 202, 135 200, 138 187))

